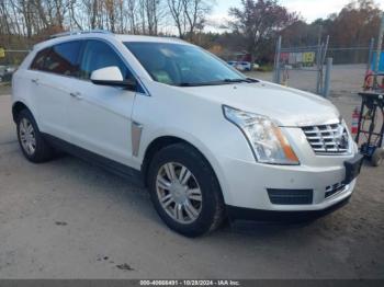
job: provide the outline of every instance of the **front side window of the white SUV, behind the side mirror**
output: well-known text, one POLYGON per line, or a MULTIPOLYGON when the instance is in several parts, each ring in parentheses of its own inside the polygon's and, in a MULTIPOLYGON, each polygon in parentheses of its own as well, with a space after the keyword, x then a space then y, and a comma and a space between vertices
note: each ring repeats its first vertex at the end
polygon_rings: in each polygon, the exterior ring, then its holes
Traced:
POLYGON ((124 80, 134 80, 126 65, 110 45, 97 39, 87 42, 80 65, 81 79, 89 80, 94 70, 113 66, 120 69, 124 80))

